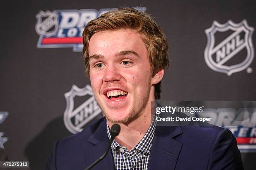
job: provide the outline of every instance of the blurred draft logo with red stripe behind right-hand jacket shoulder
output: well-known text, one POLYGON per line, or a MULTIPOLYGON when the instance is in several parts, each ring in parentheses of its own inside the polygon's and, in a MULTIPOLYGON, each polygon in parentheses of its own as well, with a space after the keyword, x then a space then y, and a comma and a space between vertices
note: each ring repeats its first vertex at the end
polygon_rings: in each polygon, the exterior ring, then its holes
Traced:
POLYGON ((205 109, 202 116, 212 117, 209 123, 229 129, 236 137, 241 153, 256 152, 256 108, 205 109))

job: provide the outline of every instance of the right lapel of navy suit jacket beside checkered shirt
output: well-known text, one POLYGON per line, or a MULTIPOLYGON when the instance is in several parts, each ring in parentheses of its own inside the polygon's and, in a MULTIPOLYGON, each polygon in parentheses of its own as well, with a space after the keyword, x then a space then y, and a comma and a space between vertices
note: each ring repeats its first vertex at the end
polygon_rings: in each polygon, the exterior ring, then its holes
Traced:
POLYGON ((174 170, 182 143, 173 139, 180 135, 179 126, 157 126, 150 151, 148 170, 174 170))

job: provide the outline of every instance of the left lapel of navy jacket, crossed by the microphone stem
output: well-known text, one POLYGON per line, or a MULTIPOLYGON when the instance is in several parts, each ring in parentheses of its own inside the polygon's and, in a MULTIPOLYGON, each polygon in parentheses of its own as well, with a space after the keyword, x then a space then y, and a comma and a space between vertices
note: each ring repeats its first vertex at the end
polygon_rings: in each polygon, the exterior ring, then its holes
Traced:
MULTIPOLYGON (((86 150, 84 151, 86 166, 89 166, 95 160, 100 158, 100 156, 105 152, 107 145, 109 143, 109 138, 107 135, 106 120, 101 121, 99 127, 86 141, 86 150)), ((92 170, 99 169, 115 170, 114 159, 112 155, 112 150, 108 151, 103 160, 101 160, 97 165, 95 165, 92 170)))

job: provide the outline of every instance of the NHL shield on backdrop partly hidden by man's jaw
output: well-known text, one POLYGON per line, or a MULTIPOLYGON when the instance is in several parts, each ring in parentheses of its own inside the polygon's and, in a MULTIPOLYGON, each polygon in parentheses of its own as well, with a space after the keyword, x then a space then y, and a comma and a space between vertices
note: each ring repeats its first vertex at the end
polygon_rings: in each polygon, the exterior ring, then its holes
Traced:
POLYGON ((86 85, 84 88, 73 85, 71 90, 65 93, 64 96, 67 100, 67 107, 64 112, 64 124, 71 133, 81 132, 84 125, 101 113, 101 109, 97 105, 90 85, 86 85), (76 96, 86 97, 87 100, 74 108, 74 98, 76 96))

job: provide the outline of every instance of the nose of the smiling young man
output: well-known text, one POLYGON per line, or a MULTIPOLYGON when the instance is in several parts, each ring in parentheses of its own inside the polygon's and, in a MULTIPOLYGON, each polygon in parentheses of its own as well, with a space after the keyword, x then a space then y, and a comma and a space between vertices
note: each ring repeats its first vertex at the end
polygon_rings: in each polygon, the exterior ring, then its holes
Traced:
POLYGON ((108 65, 105 69, 105 75, 103 77, 103 80, 105 82, 115 82, 120 81, 121 74, 120 70, 118 70, 118 67, 115 65, 108 65))

